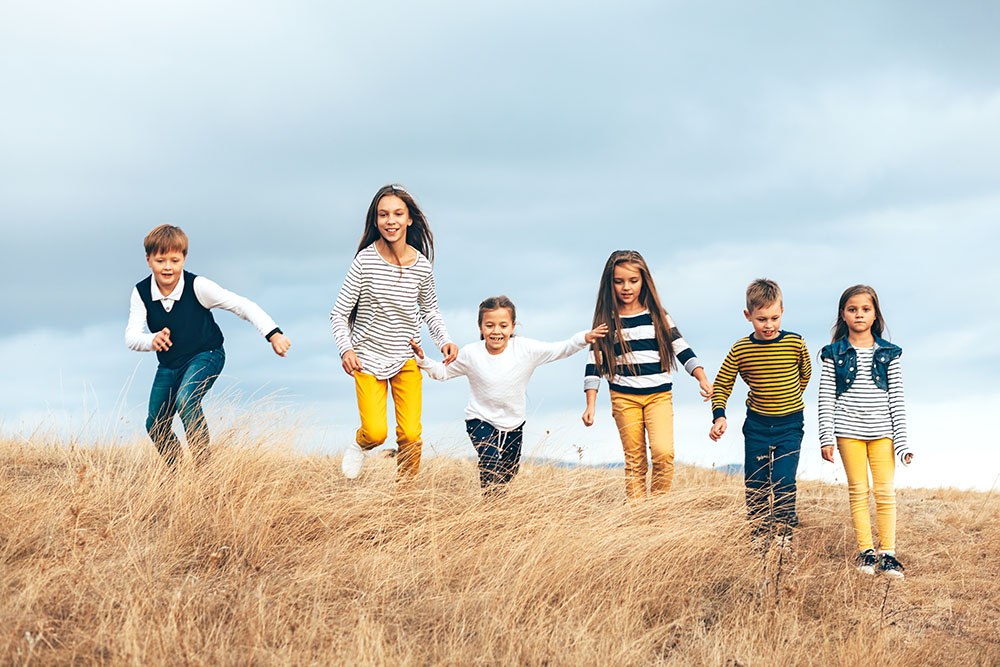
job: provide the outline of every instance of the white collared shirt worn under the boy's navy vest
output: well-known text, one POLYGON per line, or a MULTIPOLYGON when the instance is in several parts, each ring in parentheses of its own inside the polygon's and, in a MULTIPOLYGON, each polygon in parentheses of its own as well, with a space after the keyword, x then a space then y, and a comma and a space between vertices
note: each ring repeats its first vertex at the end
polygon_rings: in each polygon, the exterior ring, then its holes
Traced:
MULTIPOLYGON (((167 295, 160 293, 155 280, 150 280, 149 284, 153 301, 162 302, 163 310, 168 313, 173 309, 174 304, 180 300, 181 295, 184 294, 183 274, 181 274, 180 280, 177 281, 177 286, 167 295)), ((235 292, 230 292, 220 287, 218 283, 204 276, 195 276, 193 288, 194 295, 198 298, 198 303, 202 306, 209 309, 222 308, 223 310, 228 310, 240 319, 252 324, 262 336, 268 335, 277 328, 274 320, 256 303, 235 292)), ((125 326, 125 345, 130 350, 135 350, 136 352, 151 352, 153 350, 153 338, 156 337, 156 334, 157 332, 155 331, 150 333, 146 330, 146 305, 142 302, 142 297, 139 296, 139 288, 133 287, 132 297, 129 300, 128 324, 125 326)))

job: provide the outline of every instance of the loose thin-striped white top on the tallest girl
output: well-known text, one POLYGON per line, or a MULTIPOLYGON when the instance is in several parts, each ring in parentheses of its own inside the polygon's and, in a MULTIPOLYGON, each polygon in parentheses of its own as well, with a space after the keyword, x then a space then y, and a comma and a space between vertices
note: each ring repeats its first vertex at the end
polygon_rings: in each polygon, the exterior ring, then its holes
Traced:
POLYGON ((330 328, 340 356, 353 350, 365 373, 387 380, 414 358, 409 341, 420 342, 421 318, 439 349, 451 342, 438 310, 431 263, 418 252, 413 264, 396 266, 372 244, 354 257, 330 312, 330 328), (347 318, 355 305, 352 331, 347 318))

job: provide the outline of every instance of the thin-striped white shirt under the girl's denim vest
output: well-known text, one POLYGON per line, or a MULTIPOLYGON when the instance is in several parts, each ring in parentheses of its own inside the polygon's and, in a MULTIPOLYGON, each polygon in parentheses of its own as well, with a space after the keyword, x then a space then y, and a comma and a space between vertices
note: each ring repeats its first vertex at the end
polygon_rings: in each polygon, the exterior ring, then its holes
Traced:
POLYGON ((899 357, 889 362, 889 389, 879 389, 872 379, 876 346, 855 347, 857 375, 850 388, 837 396, 833 359, 823 360, 819 378, 819 443, 835 445, 837 438, 878 440, 892 438, 893 449, 902 457, 906 442, 906 409, 903 407, 903 371, 899 357))

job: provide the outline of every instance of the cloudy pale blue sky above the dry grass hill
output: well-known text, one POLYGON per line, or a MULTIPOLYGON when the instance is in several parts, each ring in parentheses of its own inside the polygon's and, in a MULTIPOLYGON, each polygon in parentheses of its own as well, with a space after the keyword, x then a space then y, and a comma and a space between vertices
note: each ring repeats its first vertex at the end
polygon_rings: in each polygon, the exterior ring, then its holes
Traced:
MULTIPOLYGON (((879 292, 914 465, 897 482, 1000 474, 1000 8, 994 3, 6 2, 0 7, 0 434, 144 438, 152 354, 124 346, 143 236, 265 308, 276 357, 229 313, 217 424, 270 414, 302 449, 357 426, 329 311, 372 195, 404 184, 435 237, 459 344, 504 293, 519 333, 589 328, 611 251, 649 262, 714 376, 766 276, 815 355, 849 285, 879 292), (228 415, 228 417, 226 416, 228 415)), ((815 357, 814 357, 815 358, 815 357)), ((583 356, 539 369, 526 450, 620 461, 583 356)), ((741 459, 675 379, 677 455, 741 459)), ((806 391, 804 476, 819 460, 806 391)), ((425 447, 471 456, 467 384, 427 380, 425 447)))

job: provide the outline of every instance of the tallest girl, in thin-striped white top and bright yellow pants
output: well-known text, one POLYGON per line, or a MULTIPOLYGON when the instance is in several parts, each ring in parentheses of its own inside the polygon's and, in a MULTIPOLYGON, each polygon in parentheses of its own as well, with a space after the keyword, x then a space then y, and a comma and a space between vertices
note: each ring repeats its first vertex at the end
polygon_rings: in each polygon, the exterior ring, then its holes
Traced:
POLYGON ((398 185, 379 188, 330 313, 341 364, 354 377, 361 416, 356 441, 341 463, 348 479, 361 473, 365 450, 385 442, 389 389, 396 409, 397 472, 410 478, 420 468, 420 370, 409 341, 419 338, 421 318, 445 365, 458 354, 438 310, 433 258, 434 237, 410 193, 398 185))

